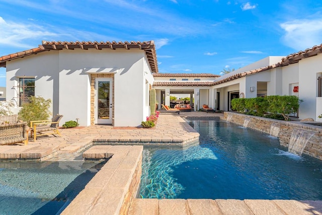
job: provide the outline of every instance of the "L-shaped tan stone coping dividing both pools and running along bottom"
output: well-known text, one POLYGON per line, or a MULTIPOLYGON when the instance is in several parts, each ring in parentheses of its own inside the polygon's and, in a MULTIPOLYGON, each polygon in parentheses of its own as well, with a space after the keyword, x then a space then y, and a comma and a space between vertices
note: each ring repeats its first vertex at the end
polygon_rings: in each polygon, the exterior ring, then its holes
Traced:
POLYGON ((136 198, 143 146, 93 146, 85 159, 110 158, 61 214, 322 214, 322 201, 136 198))

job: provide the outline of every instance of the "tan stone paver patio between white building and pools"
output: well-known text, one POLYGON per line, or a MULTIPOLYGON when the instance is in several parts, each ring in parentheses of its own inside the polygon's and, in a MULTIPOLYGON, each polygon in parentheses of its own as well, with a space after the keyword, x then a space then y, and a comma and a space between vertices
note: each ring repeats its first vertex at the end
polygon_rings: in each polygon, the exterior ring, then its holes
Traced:
POLYGON ((57 153, 74 153, 92 145, 92 141, 109 144, 164 144, 184 145, 198 139, 196 132, 182 117, 214 117, 222 114, 206 112, 183 112, 160 114, 156 127, 152 129, 113 129, 110 125, 94 125, 84 128, 60 129, 62 137, 45 136, 36 142, 30 139, 28 146, 23 144, 0 146, 0 160, 49 159, 57 153))

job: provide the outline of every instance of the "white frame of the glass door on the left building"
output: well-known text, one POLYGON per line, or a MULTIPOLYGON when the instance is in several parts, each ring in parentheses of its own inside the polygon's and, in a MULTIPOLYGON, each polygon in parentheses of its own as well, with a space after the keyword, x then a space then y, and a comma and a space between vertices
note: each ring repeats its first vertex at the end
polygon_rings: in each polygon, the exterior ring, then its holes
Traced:
POLYGON ((96 78, 95 79, 95 124, 112 124, 113 120, 113 78, 96 78), (109 81, 110 82, 110 102, 109 102, 109 118, 108 119, 99 119, 98 118, 98 82, 109 81))

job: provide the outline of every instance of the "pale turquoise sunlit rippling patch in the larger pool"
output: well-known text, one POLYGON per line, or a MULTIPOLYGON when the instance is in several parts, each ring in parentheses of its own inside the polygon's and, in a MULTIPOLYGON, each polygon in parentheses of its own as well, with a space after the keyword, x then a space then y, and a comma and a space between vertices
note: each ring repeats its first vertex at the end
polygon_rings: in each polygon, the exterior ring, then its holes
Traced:
POLYGON ((143 151, 141 198, 176 198, 185 190, 185 187, 172 176, 176 166, 199 159, 217 160, 210 149, 200 146, 190 147, 185 151, 167 151, 166 158, 164 150, 153 152, 145 149, 143 151))

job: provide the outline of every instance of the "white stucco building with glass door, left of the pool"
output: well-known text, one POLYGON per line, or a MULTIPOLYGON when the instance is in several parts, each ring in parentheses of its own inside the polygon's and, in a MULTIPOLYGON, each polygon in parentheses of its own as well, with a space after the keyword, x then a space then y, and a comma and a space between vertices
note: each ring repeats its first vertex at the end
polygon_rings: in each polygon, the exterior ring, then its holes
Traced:
POLYGON ((53 114, 81 126, 137 126, 149 115, 155 45, 148 42, 48 42, 0 57, 7 100, 52 100, 53 114))

